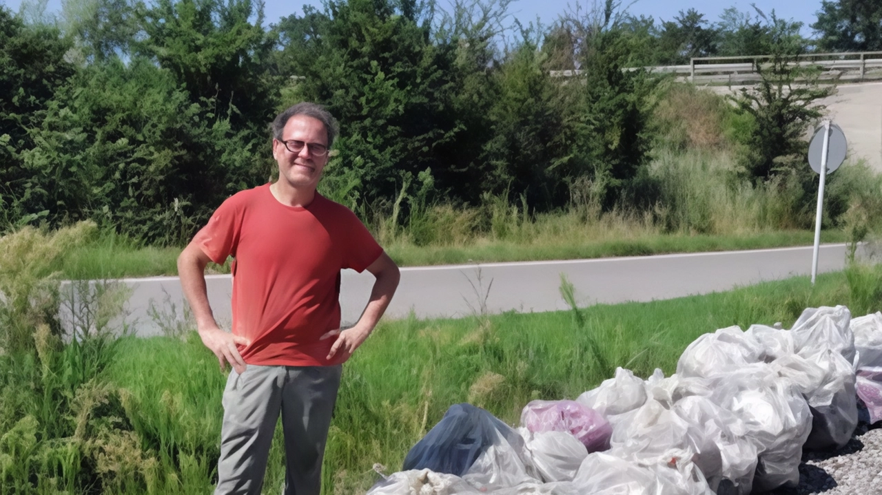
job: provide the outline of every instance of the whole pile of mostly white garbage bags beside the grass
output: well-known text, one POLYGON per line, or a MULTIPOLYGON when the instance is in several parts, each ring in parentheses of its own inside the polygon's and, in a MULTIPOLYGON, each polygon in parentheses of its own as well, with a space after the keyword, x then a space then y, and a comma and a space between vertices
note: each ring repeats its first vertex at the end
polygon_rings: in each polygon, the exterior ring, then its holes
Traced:
POLYGON ((746 495, 796 486, 803 449, 844 447, 858 398, 882 419, 882 313, 806 309, 789 330, 695 340, 676 373, 626 369, 575 401, 528 403, 515 429, 453 405, 369 495, 746 495))

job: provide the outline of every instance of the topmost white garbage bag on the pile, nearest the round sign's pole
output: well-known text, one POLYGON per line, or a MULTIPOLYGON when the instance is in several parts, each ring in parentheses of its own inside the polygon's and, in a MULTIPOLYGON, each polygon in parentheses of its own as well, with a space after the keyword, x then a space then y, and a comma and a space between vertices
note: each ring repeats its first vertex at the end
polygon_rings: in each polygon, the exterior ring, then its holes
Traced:
POLYGON ((855 363, 855 336, 849 323, 848 307, 810 307, 803 311, 790 332, 796 353, 809 358, 818 351, 839 352, 849 363, 855 363))

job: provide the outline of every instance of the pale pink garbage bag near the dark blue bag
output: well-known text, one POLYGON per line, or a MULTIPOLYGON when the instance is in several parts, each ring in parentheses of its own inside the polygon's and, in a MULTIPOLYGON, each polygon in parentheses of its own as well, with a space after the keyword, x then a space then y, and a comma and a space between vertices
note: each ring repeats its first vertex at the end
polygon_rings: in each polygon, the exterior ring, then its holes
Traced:
POLYGON ((531 432, 569 432, 588 452, 609 449, 612 426, 601 413, 575 401, 532 401, 520 413, 531 432))

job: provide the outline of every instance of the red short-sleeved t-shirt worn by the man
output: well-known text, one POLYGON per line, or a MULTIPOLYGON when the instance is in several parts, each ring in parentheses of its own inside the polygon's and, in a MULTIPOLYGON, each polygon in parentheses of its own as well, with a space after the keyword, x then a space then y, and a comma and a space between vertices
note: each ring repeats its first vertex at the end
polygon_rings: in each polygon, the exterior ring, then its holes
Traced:
POLYGON ((279 203, 269 184, 228 198, 194 238, 233 263, 233 333, 250 339, 250 365, 327 366, 340 328, 340 270, 363 271, 383 253, 345 206, 320 196, 305 208, 279 203))

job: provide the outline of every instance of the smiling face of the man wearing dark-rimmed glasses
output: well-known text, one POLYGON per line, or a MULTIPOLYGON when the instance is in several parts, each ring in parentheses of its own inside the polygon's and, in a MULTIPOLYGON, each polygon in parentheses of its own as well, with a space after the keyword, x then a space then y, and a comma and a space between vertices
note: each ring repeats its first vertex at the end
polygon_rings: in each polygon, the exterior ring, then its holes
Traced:
MULTIPOLYGON (((317 156, 313 152, 313 144, 327 147, 325 124, 307 115, 295 115, 288 119, 281 137, 284 141, 302 141, 306 145, 302 150, 294 152, 288 150, 280 140, 273 139, 273 158, 279 164, 279 181, 293 188, 316 188, 327 165, 328 156, 326 153, 317 156)), ((295 144, 289 145, 292 149, 295 148, 295 144)))

